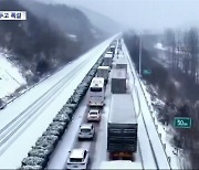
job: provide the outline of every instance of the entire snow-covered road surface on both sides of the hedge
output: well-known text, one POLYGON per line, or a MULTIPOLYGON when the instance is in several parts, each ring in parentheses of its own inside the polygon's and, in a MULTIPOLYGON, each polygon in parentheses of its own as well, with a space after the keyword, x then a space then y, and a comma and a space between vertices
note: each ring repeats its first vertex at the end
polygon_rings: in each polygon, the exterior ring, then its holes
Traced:
MULTIPOLYGON (((19 97, 0 113, 0 168, 15 169, 20 167, 21 160, 27 156, 31 146, 34 145, 36 139, 46 129, 48 125, 113 39, 111 38, 66 65, 63 70, 19 97)), ((135 167, 132 167, 132 169, 170 169, 137 73, 124 43, 122 43, 122 50, 119 57, 128 60, 128 92, 134 98, 134 107, 138 116, 138 146, 137 152, 134 153, 135 167)), ((112 76, 112 72, 109 75, 112 76)), ((88 169, 98 169, 103 161, 109 161, 106 140, 112 96, 111 76, 106 85, 105 106, 102 109, 101 123, 94 123, 96 131, 94 140, 77 140, 80 125, 87 123, 88 96, 85 96, 69 128, 51 155, 48 169, 65 169, 69 151, 74 148, 88 150, 91 158, 88 169)))

